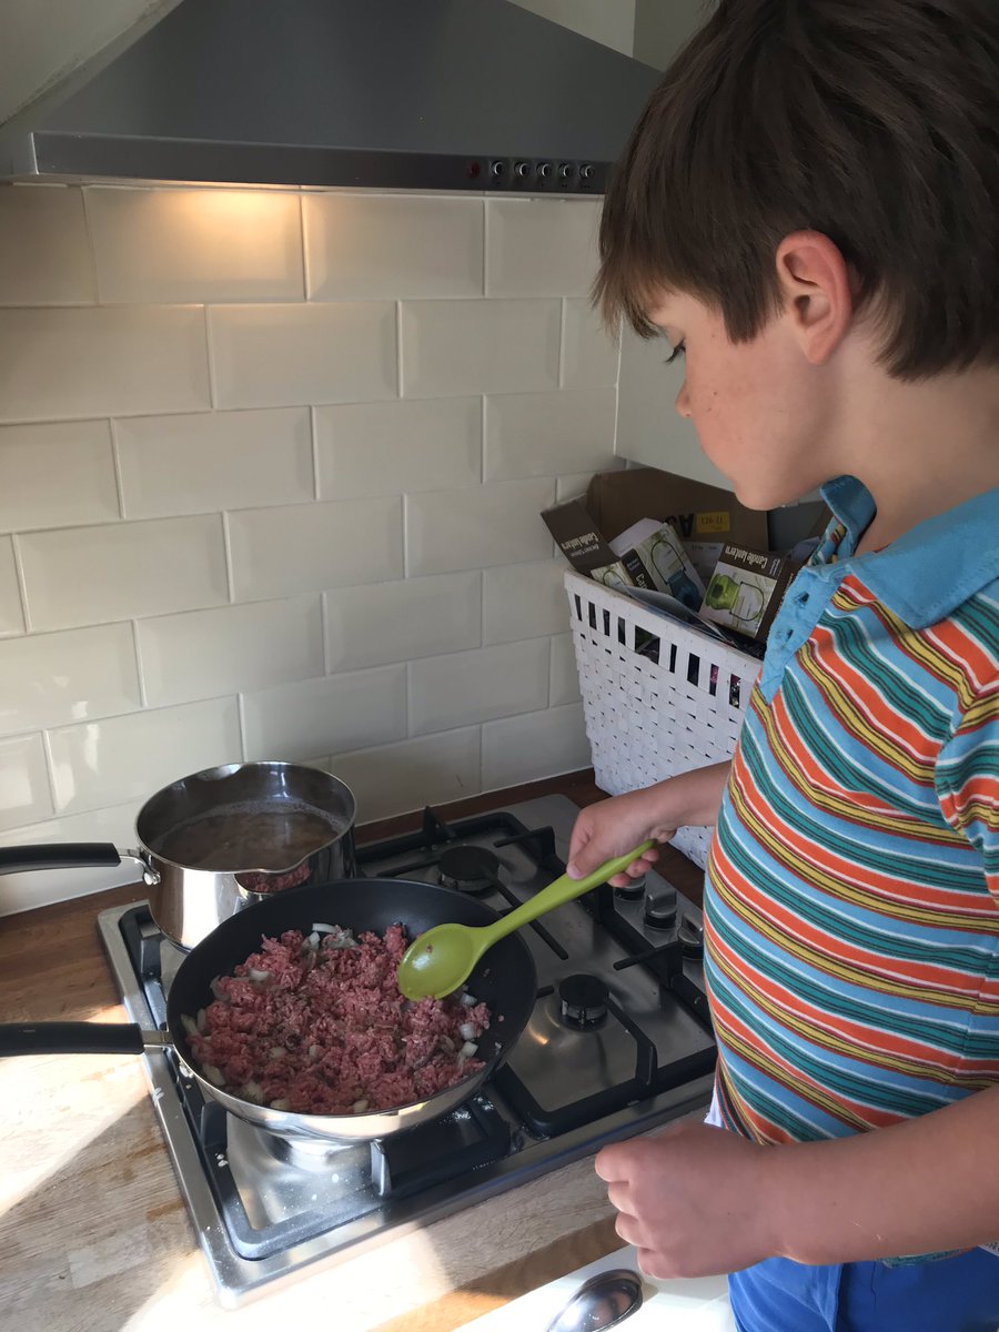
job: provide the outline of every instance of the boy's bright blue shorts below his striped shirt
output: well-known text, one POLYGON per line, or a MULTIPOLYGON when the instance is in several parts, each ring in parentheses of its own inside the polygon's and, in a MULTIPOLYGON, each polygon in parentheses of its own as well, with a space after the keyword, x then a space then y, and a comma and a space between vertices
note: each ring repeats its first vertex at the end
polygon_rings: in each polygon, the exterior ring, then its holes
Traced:
POLYGON ((771 1257, 729 1277, 739 1332, 996 1332, 999 1256, 806 1267, 771 1257))

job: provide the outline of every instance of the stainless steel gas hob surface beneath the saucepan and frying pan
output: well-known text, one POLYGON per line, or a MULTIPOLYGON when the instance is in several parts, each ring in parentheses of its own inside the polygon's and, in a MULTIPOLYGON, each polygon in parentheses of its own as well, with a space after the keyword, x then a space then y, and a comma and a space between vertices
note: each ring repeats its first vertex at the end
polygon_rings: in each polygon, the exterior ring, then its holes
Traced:
MULTIPOLYGON (((549 795, 358 848, 361 872, 428 879, 509 910, 563 870, 577 806, 549 795)), ((145 903, 99 918, 125 1008, 165 1023, 182 955, 145 903)), ((538 992, 525 1032, 481 1094, 381 1144, 330 1152, 276 1139, 205 1103, 170 1051, 144 1056, 156 1114, 222 1304, 308 1264, 426 1225, 710 1098, 714 1042, 701 912, 651 872, 525 930, 538 992)))

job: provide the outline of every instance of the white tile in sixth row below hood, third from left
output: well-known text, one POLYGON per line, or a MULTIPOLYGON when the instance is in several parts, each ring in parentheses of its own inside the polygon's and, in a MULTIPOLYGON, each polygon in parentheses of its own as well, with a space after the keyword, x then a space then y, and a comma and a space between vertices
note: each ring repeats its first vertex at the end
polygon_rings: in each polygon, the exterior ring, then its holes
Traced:
POLYGON ((297 759, 406 735, 406 667, 326 675, 242 698, 246 758, 297 759))

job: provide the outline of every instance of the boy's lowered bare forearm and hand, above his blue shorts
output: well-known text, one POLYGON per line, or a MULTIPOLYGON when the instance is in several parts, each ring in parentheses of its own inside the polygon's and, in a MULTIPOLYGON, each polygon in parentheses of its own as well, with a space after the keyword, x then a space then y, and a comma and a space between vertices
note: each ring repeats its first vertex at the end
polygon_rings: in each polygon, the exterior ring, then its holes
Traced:
POLYGON ((733 1272, 766 1257, 852 1263, 999 1240, 999 1087, 919 1119, 759 1147, 685 1124, 603 1148, 618 1235, 650 1276, 733 1272))

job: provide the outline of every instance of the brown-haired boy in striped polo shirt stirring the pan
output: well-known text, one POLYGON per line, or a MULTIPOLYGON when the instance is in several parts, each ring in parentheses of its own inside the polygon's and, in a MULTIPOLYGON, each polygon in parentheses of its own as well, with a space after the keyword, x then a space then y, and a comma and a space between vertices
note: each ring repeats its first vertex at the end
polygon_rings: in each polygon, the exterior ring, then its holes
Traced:
POLYGON ((715 825, 715 1100, 598 1155, 618 1233, 745 1332, 995 1332, 999 4, 722 0, 601 256, 738 498, 834 513, 731 765, 573 832, 579 876, 715 825))

